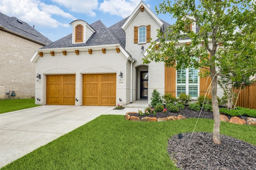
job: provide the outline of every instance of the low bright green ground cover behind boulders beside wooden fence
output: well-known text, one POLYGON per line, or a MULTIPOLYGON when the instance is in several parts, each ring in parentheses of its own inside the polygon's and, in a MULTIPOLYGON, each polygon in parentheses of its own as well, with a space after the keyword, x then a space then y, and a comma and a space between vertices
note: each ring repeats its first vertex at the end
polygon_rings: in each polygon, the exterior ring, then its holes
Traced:
POLYGON ((249 117, 256 117, 256 110, 255 109, 248 109, 244 107, 236 107, 235 109, 226 109, 221 108, 220 113, 230 115, 230 116, 240 116, 246 115, 249 117))

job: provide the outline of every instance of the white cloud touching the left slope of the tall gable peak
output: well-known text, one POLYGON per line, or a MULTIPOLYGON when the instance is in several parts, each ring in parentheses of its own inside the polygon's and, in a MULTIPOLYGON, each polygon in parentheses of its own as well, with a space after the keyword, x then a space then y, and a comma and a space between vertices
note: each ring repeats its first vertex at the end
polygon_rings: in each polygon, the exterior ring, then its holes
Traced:
POLYGON ((104 2, 100 4, 100 10, 110 13, 111 15, 126 18, 132 14, 136 6, 140 4, 140 1, 141 0, 104 0, 104 2))

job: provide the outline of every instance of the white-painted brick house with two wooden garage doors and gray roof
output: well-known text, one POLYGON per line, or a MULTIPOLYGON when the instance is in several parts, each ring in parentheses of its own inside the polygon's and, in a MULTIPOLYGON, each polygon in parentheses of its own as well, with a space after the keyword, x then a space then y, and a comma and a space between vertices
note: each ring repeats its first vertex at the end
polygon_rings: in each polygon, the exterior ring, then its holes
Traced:
MULTIPOLYGON (((169 25, 143 1, 128 18, 109 28, 101 21, 70 24, 70 35, 38 49, 30 60, 41 74, 36 104, 125 106, 136 100, 150 104, 154 89, 174 96, 184 92, 196 99, 210 83, 198 77, 198 70, 143 64, 150 39, 157 40, 157 29, 165 31, 169 25)), ((196 31, 196 25, 190 29, 196 31)))

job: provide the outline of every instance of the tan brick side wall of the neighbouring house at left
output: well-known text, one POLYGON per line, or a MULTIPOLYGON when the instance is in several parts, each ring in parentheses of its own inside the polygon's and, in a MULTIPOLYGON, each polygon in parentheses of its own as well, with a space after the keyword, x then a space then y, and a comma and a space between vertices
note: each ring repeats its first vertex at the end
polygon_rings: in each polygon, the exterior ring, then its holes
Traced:
POLYGON ((30 59, 36 49, 43 47, 27 39, 0 30, 0 99, 15 91, 14 98, 35 96, 35 63, 30 59))

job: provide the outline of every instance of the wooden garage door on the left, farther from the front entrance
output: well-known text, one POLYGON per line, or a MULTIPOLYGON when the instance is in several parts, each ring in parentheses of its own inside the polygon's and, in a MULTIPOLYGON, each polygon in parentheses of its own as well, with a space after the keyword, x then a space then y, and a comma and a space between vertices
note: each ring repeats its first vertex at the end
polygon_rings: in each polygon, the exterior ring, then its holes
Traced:
POLYGON ((47 75, 46 104, 75 105, 76 75, 47 75))

